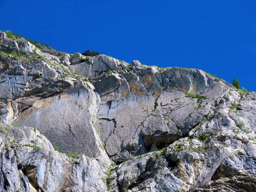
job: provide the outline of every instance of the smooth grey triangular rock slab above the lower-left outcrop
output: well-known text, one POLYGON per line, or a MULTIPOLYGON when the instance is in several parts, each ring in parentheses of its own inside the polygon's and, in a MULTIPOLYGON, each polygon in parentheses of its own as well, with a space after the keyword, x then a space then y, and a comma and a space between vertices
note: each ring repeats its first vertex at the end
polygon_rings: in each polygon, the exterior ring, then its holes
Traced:
MULTIPOLYGON (((99 108, 97 99, 83 84, 77 85, 62 93, 27 103, 27 109, 23 109, 24 112, 13 123, 38 128, 65 153, 104 157, 100 159, 101 164, 108 166, 109 159, 94 127, 99 108)), ((19 106, 21 102, 17 102, 19 106)))

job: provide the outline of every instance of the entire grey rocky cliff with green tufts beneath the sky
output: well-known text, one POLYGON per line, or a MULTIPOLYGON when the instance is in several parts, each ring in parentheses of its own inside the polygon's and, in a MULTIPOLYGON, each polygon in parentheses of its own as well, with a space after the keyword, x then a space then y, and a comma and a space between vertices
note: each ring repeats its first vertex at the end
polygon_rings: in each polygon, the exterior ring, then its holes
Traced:
POLYGON ((202 70, 0 32, 0 121, 3 192, 256 191, 256 93, 202 70))

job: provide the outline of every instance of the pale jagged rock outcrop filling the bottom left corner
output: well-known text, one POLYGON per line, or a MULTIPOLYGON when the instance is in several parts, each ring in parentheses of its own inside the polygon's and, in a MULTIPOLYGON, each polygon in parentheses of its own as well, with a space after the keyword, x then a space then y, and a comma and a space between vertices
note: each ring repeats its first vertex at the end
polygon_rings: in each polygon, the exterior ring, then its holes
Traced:
POLYGON ((94 158, 66 156, 35 128, 0 123, 0 191, 106 191, 94 158))

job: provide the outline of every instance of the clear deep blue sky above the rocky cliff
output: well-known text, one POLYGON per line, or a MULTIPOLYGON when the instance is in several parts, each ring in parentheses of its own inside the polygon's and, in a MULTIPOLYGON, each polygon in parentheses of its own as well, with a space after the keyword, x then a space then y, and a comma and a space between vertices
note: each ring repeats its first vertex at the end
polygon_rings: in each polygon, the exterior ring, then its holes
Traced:
POLYGON ((0 14, 0 30, 60 51, 198 68, 256 91, 256 0, 0 0, 0 14))

